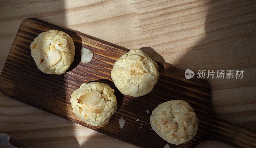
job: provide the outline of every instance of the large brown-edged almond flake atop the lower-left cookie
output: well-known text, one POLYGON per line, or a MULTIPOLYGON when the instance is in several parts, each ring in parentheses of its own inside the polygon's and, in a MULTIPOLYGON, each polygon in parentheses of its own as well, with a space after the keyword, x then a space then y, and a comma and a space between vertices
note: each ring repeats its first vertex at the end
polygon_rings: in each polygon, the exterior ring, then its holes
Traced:
POLYGON ((100 98, 101 98, 100 92, 93 90, 81 95, 77 101, 80 104, 85 103, 88 105, 95 105, 100 100, 100 98))

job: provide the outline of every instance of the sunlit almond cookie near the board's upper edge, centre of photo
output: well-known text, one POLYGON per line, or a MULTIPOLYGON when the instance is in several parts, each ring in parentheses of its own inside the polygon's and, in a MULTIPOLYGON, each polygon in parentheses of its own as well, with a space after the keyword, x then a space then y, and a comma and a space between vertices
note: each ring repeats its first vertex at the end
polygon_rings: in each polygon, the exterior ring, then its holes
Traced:
POLYGON ((111 78, 124 95, 139 97, 152 91, 159 77, 158 65, 140 49, 116 60, 111 78))

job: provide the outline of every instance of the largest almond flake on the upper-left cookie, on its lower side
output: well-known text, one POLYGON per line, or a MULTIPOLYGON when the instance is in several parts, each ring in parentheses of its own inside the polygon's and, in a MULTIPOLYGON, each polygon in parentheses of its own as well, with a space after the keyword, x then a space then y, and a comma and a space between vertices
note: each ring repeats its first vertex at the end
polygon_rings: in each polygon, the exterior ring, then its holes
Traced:
POLYGON ((49 67, 49 66, 55 65, 61 59, 61 55, 60 55, 60 52, 58 50, 50 50, 50 51, 47 51, 46 54, 47 54, 48 58, 44 59, 41 62, 43 67, 49 67))

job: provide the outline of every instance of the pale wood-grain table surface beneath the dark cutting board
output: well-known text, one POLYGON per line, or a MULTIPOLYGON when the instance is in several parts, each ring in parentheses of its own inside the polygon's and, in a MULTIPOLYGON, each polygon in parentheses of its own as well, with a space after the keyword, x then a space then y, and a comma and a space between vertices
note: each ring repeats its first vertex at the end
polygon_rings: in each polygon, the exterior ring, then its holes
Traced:
MULTIPOLYGON (((244 70, 242 79, 208 78, 223 119, 256 129, 256 3, 235 0, 89 0, 0 2, 0 70, 20 23, 38 18, 118 46, 142 48, 180 69, 244 70)), ((0 93, 0 133, 28 148, 134 148, 0 93)), ((199 147, 223 147, 210 141, 199 147)))

